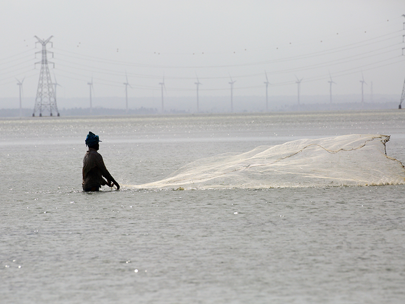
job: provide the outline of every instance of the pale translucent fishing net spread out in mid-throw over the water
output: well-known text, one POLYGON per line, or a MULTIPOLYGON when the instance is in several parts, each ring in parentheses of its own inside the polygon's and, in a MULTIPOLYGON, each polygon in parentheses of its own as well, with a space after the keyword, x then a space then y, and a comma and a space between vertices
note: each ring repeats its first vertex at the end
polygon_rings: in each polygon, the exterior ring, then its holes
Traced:
POLYGON ((272 188, 405 183, 402 164, 386 155, 386 135, 344 135, 259 146, 192 162, 136 188, 272 188))

